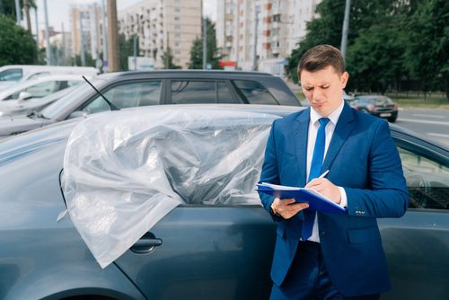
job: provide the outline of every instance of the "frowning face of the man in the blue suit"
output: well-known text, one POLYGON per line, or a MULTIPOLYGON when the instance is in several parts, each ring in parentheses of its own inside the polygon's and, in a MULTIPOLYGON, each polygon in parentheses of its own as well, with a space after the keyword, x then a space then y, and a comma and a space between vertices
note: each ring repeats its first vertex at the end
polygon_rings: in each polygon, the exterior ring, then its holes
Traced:
POLYGON ((339 75, 333 66, 316 72, 301 72, 300 80, 305 98, 321 117, 328 117, 339 107, 348 76, 348 72, 339 75))

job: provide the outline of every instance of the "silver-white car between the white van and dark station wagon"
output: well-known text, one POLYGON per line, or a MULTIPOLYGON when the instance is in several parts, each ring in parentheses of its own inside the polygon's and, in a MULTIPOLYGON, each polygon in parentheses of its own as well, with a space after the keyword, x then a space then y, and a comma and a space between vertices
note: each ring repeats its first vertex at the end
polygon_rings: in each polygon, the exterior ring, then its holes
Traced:
MULTIPOLYGON (((91 78, 88 76, 88 78, 91 78)), ((81 75, 49 75, 15 84, 0 92, 0 105, 6 101, 26 101, 33 98, 42 98, 57 93, 68 87, 83 84, 81 75)))

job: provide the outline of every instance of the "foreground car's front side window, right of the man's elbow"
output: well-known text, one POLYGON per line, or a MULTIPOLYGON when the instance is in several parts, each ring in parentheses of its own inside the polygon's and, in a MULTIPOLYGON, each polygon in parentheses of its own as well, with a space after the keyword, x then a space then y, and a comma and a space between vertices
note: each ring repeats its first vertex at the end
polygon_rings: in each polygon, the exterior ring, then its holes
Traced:
POLYGON ((398 147, 411 208, 449 209, 449 166, 398 147))

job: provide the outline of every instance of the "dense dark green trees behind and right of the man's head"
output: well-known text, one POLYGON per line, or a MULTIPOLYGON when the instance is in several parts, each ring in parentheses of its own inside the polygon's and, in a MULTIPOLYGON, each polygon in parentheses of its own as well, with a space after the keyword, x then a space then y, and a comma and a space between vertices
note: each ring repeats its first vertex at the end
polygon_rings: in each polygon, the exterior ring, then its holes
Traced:
MULTIPOLYGON (((340 46, 345 0, 322 0, 319 17, 288 57, 287 74, 305 51, 340 46)), ((349 89, 385 92, 413 81, 420 89, 449 94, 449 2, 446 0, 357 0, 351 2, 346 65, 349 89)), ((449 98, 449 97, 448 97, 449 98)))

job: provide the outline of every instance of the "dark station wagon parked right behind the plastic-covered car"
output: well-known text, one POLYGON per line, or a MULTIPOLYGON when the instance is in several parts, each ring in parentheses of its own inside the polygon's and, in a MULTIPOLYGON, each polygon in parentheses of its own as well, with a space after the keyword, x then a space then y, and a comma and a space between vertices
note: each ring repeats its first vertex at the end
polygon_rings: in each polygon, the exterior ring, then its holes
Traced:
MULTIPOLYGON (((190 103, 240 103, 300 106, 279 77, 259 72, 151 71, 109 73, 92 84, 119 109, 190 103)), ((29 116, 0 119, 0 137, 16 135, 65 119, 110 110, 88 84, 29 116)))

